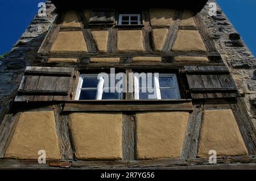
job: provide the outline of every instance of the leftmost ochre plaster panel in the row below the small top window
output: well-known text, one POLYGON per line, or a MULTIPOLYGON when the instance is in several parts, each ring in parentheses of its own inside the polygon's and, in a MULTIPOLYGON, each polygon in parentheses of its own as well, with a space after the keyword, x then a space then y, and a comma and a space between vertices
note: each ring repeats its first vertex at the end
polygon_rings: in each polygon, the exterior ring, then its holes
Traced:
POLYGON ((82 31, 59 32, 50 52, 88 52, 82 31))

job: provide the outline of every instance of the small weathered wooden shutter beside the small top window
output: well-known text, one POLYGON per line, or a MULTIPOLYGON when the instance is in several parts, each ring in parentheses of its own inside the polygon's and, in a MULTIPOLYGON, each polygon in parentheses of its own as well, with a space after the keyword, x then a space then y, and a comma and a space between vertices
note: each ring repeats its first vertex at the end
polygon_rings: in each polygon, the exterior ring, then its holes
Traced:
POLYGON ((90 24, 111 24, 115 21, 114 10, 92 10, 90 24))

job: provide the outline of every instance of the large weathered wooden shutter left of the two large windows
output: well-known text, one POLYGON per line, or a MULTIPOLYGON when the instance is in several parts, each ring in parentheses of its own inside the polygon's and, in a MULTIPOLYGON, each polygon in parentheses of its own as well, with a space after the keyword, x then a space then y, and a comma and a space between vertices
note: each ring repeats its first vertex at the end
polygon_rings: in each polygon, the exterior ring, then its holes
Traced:
POLYGON ((69 100, 74 68, 28 66, 16 102, 69 100))

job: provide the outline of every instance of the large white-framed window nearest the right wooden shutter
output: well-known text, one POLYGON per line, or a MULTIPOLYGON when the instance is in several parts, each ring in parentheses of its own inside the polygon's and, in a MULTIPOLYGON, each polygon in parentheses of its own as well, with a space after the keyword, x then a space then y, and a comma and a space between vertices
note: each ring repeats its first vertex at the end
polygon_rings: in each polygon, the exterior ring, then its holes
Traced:
POLYGON ((134 74, 135 99, 180 99, 176 74, 134 74))

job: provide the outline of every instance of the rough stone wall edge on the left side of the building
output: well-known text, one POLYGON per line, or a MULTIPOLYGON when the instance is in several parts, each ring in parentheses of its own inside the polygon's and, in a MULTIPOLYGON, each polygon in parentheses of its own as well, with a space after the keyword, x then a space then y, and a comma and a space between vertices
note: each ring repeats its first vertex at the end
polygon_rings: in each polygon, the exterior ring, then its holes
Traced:
POLYGON ((13 102, 24 69, 36 59, 36 53, 56 18, 55 6, 46 1, 46 7, 47 16, 35 16, 0 66, 0 123, 13 102))

